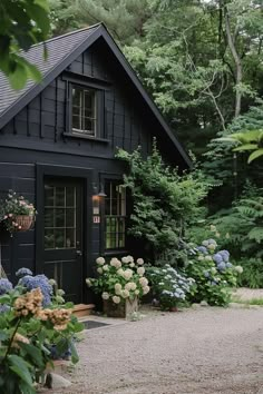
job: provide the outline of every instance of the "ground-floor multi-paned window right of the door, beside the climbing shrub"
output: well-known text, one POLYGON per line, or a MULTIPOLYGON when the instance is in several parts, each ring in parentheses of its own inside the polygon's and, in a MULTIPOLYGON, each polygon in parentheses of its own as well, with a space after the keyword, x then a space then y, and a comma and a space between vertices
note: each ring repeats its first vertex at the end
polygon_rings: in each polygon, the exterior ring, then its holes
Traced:
POLYGON ((106 249, 125 247, 126 189, 118 181, 106 181, 105 239, 106 249))

